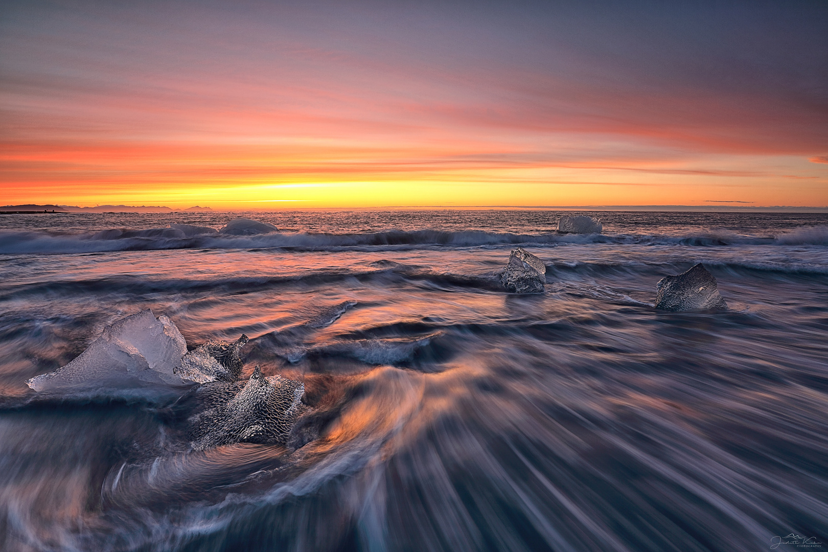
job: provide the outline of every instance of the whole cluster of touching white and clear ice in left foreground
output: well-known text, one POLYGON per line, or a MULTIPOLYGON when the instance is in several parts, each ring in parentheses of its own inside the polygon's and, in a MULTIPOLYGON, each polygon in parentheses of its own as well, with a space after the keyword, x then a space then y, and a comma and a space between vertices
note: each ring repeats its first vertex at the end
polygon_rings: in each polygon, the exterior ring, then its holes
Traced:
POLYGON ((166 316, 142 310, 103 329, 83 353, 55 372, 32 377, 35 391, 60 391, 75 397, 167 399, 195 397, 187 419, 187 439, 195 450, 233 443, 286 443, 305 384, 282 376, 264 377, 257 366, 239 382, 248 343, 209 341, 187 352, 181 332, 166 316), (192 389, 194 384, 195 389, 192 389))

